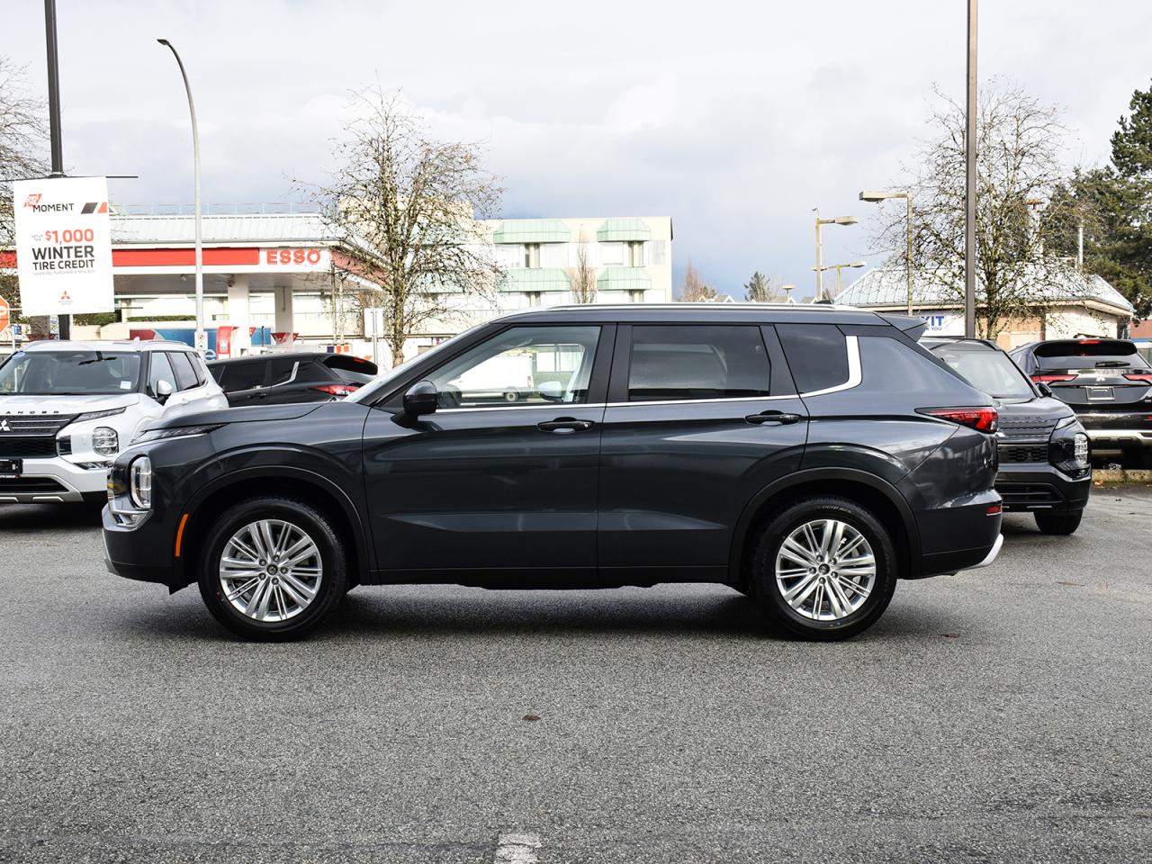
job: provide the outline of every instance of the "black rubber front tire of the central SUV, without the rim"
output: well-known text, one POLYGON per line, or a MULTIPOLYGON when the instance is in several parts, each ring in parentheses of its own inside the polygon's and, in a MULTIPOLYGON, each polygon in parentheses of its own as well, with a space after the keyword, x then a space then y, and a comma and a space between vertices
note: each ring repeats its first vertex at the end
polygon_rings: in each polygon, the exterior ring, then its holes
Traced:
POLYGON ((230 507, 209 529, 200 548, 198 582, 204 604, 217 621, 247 639, 297 639, 319 627, 347 592, 348 556, 340 532, 323 513, 291 498, 257 498, 230 507), (244 525, 268 518, 289 522, 308 533, 323 563, 323 577, 312 601, 295 616, 278 622, 257 621, 234 608, 219 578, 219 562, 228 539, 244 525))

